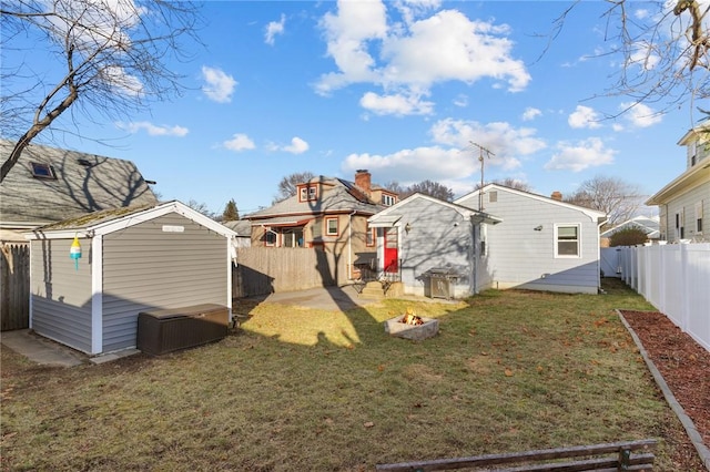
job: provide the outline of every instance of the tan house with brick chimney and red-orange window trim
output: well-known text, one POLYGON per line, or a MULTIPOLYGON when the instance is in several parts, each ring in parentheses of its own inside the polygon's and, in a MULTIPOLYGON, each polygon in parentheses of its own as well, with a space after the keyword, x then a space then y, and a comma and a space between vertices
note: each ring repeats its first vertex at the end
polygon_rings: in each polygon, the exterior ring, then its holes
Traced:
POLYGON ((355 182, 318 176, 296 185, 296 194, 248 215, 252 247, 314 248, 335 264, 337 285, 359 277, 356 266, 375 257, 375 232, 367 218, 397 202, 397 194, 372 184, 359 170, 355 182), (339 269, 339 267, 343 269, 339 269))

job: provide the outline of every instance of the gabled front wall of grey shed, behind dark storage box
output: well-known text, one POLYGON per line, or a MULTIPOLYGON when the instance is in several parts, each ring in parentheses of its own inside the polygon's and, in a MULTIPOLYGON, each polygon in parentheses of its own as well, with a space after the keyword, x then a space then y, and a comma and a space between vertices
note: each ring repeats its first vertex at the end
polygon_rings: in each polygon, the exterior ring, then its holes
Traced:
POLYGON ((104 235, 103 351, 136 345, 142 310, 226 305, 225 245, 174 213, 104 235))

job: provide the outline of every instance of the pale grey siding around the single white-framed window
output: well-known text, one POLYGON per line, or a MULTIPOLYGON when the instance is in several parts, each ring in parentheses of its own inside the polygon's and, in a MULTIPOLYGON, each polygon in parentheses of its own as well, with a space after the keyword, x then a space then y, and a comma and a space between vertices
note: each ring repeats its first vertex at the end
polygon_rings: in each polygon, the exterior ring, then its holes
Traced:
MULTIPOLYGON (((486 213, 503 223, 486 228, 487 270, 494 288, 531 288, 597 293, 599 286, 599 228, 582 212, 505 188, 484 194, 486 213), (555 256, 555 225, 580 225, 580 257, 555 256), (540 230, 535 228, 540 227, 540 230)), ((478 195, 457 201, 478 207, 478 195)))

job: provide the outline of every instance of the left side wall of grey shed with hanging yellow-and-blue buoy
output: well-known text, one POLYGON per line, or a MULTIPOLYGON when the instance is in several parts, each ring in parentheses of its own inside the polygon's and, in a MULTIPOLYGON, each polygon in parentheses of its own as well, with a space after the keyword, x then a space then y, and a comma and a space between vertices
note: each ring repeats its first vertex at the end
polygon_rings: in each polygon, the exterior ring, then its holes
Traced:
POLYGON ((69 257, 73 239, 31 242, 32 329, 83 352, 91 351, 91 240, 80 239, 79 269, 69 257))

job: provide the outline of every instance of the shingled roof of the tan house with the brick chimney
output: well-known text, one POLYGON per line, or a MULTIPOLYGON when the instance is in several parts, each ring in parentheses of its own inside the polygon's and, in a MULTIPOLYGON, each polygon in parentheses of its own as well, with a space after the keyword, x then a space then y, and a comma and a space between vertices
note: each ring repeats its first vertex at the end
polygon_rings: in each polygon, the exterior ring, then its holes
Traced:
MULTIPOLYGON (((288 197, 275 205, 260 209, 244 216, 253 223, 260 224, 284 224, 281 219, 274 218, 301 218, 305 215, 321 215, 327 213, 352 213, 356 212, 365 215, 374 215, 386 208, 371 201, 365 193, 352 182, 341 178, 315 177, 308 183, 321 183, 325 191, 315 201, 300 202, 298 195, 288 197), (265 222, 267 220, 267 222, 265 222)), ((303 218, 301 218, 303 219, 303 218)))

